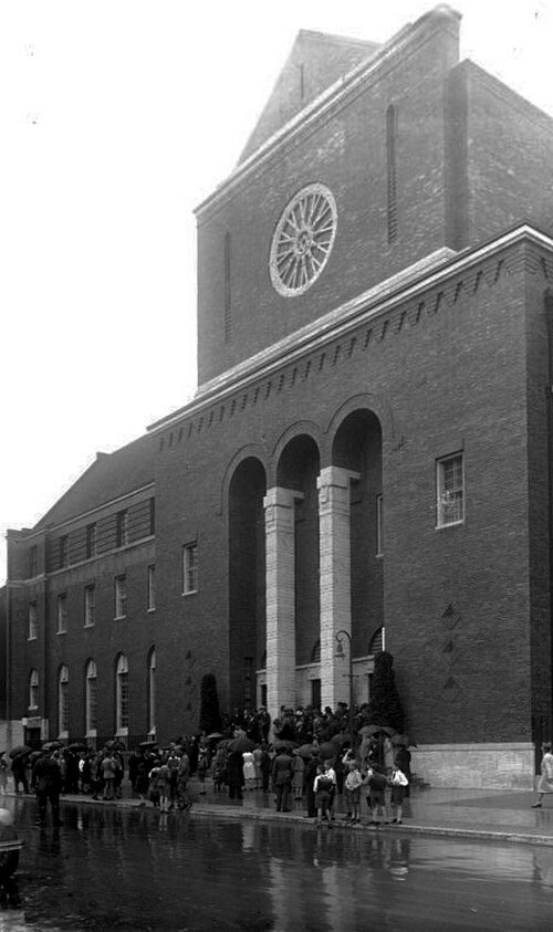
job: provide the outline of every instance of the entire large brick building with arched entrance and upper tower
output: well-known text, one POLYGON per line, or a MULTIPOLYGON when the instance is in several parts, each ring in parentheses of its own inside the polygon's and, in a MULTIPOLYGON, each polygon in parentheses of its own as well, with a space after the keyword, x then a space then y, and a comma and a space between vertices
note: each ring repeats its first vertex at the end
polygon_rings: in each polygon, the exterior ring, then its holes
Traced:
POLYGON ((197 211, 195 399, 9 534, 12 742, 368 698, 434 785, 551 735, 553 122, 437 7, 301 32, 197 211), (341 632, 345 631, 343 635, 341 632), (342 638, 346 660, 337 655, 342 638))

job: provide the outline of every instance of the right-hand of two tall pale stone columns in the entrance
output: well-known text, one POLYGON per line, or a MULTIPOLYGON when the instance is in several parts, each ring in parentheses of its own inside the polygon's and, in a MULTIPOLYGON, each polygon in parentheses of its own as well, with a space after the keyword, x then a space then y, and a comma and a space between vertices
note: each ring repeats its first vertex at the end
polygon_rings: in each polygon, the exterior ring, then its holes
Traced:
POLYGON ((349 704, 349 649, 336 657, 336 632, 352 633, 349 482, 358 473, 326 467, 317 479, 321 559, 321 702, 349 704))

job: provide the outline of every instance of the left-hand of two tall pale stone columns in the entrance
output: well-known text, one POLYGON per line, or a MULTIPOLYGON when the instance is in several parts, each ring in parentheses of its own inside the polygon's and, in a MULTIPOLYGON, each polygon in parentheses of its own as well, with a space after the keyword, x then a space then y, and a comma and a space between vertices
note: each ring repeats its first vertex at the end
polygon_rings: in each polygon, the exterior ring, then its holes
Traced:
POLYGON ((282 704, 295 708, 295 528, 298 492, 268 489, 267 559, 267 701, 271 719, 282 704))

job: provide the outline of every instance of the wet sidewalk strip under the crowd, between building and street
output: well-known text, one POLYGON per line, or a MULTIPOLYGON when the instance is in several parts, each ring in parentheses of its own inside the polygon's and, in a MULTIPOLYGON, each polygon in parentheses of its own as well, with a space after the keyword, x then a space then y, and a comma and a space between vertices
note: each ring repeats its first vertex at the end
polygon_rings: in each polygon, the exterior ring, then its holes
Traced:
MULTIPOLYGON (((90 796, 62 796, 63 803, 80 803, 93 806, 122 806, 135 808, 139 799, 133 798, 131 786, 124 782, 123 799, 113 803, 95 802, 90 796)), ((313 819, 306 819, 305 798, 290 802, 292 813, 276 813, 273 794, 260 790, 244 792, 242 802, 229 800, 226 793, 215 793, 210 779, 206 781, 206 794, 199 795, 199 784, 192 779, 189 784, 190 798, 194 800, 194 815, 217 815, 226 818, 270 819, 279 823, 302 824, 305 828, 314 826, 313 819)), ((425 835, 450 836, 458 838, 490 839, 514 841, 518 844, 546 845, 553 847, 553 797, 545 797, 541 809, 532 809, 536 794, 517 790, 480 789, 419 789, 411 787, 409 799, 404 803, 401 826, 383 825, 379 828, 368 825, 369 815, 365 800, 362 802, 363 831, 422 832, 425 835)), ((343 796, 336 796, 335 827, 352 830, 343 821, 345 814, 343 796)), ((153 808, 152 804, 147 806, 153 808)), ((389 816, 386 816, 388 818, 389 816)))

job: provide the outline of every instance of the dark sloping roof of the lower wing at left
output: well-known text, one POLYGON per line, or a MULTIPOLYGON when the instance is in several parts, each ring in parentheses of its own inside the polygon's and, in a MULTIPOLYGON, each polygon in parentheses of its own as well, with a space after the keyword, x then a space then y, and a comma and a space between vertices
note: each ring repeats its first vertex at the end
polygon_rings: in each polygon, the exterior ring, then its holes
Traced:
POLYGON ((156 439, 146 434, 113 453, 97 453, 35 528, 61 524, 153 482, 155 443, 156 439))

